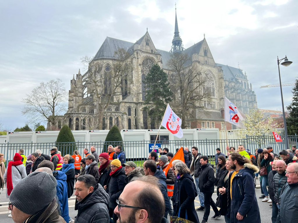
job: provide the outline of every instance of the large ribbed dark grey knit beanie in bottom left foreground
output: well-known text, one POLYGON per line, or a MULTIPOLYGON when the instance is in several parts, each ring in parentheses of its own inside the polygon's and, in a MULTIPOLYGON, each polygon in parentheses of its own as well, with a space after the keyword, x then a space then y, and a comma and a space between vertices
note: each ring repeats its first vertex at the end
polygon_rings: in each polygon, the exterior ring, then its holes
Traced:
POLYGON ((26 214, 35 214, 56 196, 57 180, 46 172, 33 172, 20 180, 10 194, 10 202, 26 214))

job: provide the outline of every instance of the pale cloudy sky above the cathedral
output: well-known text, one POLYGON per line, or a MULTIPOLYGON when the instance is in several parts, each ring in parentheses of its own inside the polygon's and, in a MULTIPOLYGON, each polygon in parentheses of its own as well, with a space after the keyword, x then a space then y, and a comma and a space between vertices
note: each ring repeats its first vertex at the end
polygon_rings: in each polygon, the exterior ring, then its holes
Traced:
MULTIPOLYGON (((281 110, 277 56, 283 83, 297 78, 296 0, 193 0, 177 3, 185 48, 203 39, 215 62, 246 72, 261 109, 281 110)), ((66 89, 82 56, 94 56, 106 36, 136 42, 146 28, 156 48, 169 51, 175 1, 2 1, 0 6, 0 123, 14 130, 27 123, 21 99, 41 81, 61 78, 66 89)), ((283 87, 285 105, 292 86, 283 87)))

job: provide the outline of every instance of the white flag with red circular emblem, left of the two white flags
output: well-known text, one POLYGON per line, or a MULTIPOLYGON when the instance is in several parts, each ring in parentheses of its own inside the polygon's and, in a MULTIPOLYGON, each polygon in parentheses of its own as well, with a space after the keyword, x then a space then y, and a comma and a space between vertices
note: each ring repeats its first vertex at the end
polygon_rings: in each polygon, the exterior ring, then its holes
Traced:
POLYGON ((181 119, 175 114, 175 112, 173 112, 170 105, 168 104, 162 119, 162 126, 169 130, 174 136, 181 139, 183 137, 181 123, 181 119))

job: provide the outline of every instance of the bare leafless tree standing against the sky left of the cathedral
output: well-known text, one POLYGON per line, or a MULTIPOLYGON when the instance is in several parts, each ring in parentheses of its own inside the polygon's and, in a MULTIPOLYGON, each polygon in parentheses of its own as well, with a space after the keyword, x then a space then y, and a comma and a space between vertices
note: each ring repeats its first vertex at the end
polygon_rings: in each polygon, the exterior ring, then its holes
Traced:
POLYGON ((55 126, 57 116, 66 112, 67 96, 62 80, 41 82, 38 87, 22 99, 22 102, 25 103, 22 113, 31 122, 47 120, 50 126, 55 126))

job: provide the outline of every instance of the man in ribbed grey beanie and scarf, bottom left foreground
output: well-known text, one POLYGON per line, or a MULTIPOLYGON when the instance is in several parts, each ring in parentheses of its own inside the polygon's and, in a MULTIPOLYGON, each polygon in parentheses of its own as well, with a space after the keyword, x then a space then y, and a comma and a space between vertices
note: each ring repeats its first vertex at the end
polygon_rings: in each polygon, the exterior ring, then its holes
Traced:
POLYGON ((46 172, 33 172, 20 180, 10 194, 8 209, 15 223, 63 223, 56 203, 57 181, 46 172), (38 194, 38 196, 31 196, 38 194), (31 199, 28 199, 31 197, 31 199))

